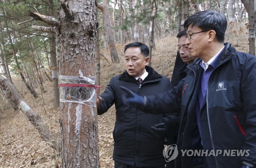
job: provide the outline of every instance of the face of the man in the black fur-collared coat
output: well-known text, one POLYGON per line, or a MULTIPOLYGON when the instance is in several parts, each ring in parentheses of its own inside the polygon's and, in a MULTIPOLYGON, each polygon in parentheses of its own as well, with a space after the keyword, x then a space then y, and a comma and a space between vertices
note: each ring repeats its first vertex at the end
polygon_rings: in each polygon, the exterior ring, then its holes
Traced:
POLYGON ((139 47, 129 47, 124 53, 125 68, 127 73, 136 78, 144 74, 145 66, 148 64, 150 57, 143 57, 139 47))

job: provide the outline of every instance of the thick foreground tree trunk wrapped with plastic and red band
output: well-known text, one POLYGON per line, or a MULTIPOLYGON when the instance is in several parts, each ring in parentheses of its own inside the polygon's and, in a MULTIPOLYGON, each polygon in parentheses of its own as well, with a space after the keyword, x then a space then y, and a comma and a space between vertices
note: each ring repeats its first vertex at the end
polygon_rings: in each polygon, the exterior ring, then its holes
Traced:
MULTIPOLYGON (((62 1, 59 11, 57 41, 59 48, 59 73, 88 79, 95 76, 96 4, 92 1, 62 1), (71 11, 72 10, 72 11, 71 11), (72 17, 67 17, 71 13, 72 17)), ((60 81, 62 83, 63 81, 60 81)), ((67 81, 70 84, 72 81, 67 81)), ((85 81, 81 81, 83 84, 85 81)), ((74 84, 74 83, 72 83, 74 84)), ((65 84, 64 84, 65 85, 65 84)), ((83 84, 85 85, 85 84, 83 84)), ((69 103, 60 103, 62 167, 99 167, 98 121, 96 94, 88 98, 90 86, 60 86, 74 93, 69 103), (88 104, 74 102, 87 96, 88 104), (78 97, 79 96, 79 97, 78 97)), ((61 95, 60 95, 61 97, 61 95)), ((61 97, 62 98, 62 97, 61 97)), ((85 102, 86 103, 86 102, 85 102)))

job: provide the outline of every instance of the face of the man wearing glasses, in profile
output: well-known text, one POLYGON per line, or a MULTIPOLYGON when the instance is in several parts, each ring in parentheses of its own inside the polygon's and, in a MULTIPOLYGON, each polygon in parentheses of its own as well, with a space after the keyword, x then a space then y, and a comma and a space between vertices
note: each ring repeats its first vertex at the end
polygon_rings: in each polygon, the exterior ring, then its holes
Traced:
POLYGON ((186 39, 185 44, 188 46, 190 56, 193 58, 204 58, 209 54, 209 31, 202 32, 202 29, 197 26, 188 26, 187 35, 190 34, 191 39, 186 39), (198 33, 201 32, 201 33, 198 33), (195 34, 193 34, 195 33, 195 34))

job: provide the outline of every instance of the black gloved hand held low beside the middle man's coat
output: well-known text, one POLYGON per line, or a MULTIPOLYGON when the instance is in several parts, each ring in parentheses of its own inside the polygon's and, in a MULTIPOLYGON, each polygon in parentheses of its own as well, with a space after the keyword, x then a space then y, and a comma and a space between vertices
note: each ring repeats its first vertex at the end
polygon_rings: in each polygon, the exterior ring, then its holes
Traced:
POLYGON ((159 135, 168 133, 170 136, 178 135, 180 125, 180 117, 168 119, 166 122, 155 124, 151 126, 151 130, 159 135))

